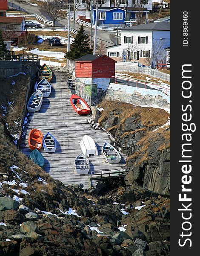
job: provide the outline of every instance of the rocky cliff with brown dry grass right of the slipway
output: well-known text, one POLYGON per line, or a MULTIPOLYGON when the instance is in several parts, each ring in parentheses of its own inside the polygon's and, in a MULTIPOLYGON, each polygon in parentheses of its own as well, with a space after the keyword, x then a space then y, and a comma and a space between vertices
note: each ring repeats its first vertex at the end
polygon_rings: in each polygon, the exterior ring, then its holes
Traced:
POLYGON ((126 186, 170 194, 169 113, 160 108, 134 107, 104 101, 99 125, 110 131, 128 156, 126 186))

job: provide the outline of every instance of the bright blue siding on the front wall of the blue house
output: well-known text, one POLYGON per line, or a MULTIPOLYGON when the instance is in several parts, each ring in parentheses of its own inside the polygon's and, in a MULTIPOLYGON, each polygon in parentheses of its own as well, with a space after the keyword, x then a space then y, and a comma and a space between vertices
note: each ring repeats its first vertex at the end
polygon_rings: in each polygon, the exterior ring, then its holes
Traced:
MULTIPOLYGON (((125 11, 120 10, 120 9, 114 9, 114 10, 98 10, 98 12, 106 12, 106 20, 104 21, 104 24, 124 24, 124 19, 125 19, 125 11), (114 12, 122 12, 123 13, 123 19, 122 20, 113 20, 113 13, 114 12)), ((96 10, 94 9, 93 13, 93 24, 95 24, 95 19, 96 19, 96 10)), ((98 25, 102 24, 103 20, 98 20, 98 25)))

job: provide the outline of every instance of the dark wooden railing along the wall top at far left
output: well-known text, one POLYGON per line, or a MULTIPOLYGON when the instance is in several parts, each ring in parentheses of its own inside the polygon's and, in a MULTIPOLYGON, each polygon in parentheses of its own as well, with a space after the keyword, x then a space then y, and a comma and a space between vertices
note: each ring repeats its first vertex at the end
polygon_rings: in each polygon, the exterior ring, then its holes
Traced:
POLYGON ((37 54, 0 54, 0 61, 39 61, 37 54))

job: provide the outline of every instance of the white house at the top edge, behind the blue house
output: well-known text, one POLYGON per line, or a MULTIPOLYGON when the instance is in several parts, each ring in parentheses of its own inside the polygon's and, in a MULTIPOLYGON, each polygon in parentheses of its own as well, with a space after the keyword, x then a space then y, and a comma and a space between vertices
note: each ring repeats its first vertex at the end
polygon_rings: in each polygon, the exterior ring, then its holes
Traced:
MULTIPOLYGON (((93 6, 96 6, 96 3, 100 7, 126 7, 127 0, 94 0, 93 6)), ((149 11, 152 11, 153 0, 140 0, 141 3, 138 4, 138 0, 128 0, 128 7, 139 7, 147 8, 149 11)), ((88 6, 87 0, 79 0, 78 9, 87 9, 88 6)))

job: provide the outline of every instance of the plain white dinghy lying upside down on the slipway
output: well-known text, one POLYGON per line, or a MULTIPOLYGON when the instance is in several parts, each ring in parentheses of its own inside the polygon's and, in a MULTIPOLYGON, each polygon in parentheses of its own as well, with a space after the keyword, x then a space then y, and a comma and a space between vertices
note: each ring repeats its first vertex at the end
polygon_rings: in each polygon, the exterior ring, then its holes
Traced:
POLYGON ((83 136, 82 140, 80 141, 80 148, 83 154, 87 157, 91 155, 94 155, 94 156, 98 155, 97 146, 94 140, 88 135, 83 136))

